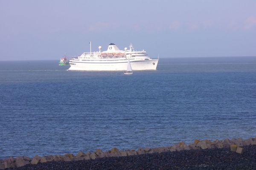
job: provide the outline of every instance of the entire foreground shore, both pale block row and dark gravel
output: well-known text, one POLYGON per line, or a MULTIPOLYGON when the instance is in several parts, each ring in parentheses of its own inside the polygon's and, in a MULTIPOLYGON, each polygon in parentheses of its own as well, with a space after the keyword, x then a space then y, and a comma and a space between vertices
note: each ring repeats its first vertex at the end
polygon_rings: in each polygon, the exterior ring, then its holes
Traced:
POLYGON ((94 169, 256 169, 256 138, 246 140, 195 140, 169 147, 118 150, 65 155, 26 156, 0 160, 0 170, 94 169))

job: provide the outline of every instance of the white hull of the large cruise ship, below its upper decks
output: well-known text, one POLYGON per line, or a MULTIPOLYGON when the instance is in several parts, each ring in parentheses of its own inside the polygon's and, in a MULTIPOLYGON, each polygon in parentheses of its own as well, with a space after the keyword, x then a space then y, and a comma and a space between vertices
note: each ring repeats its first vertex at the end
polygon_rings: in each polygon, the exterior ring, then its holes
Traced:
MULTIPOLYGON (((70 61, 73 71, 125 71, 127 62, 80 62, 70 61)), ((131 61, 132 70, 156 70, 158 59, 131 61)))

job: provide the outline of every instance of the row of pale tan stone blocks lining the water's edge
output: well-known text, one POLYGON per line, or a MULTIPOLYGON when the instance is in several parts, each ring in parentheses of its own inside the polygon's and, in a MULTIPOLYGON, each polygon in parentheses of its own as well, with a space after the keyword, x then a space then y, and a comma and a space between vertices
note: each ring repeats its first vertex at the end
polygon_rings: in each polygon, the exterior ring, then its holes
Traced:
MULTIPOLYGON (((249 145, 256 145, 256 138, 250 138, 246 140, 242 140, 241 138, 231 139, 231 140, 217 139, 215 141, 209 141, 207 139, 201 140, 201 141, 195 140, 194 143, 187 144, 187 145, 184 142, 180 142, 178 144, 175 144, 169 147, 155 147, 155 148, 146 147, 146 148, 139 148, 138 150, 119 150, 116 147, 114 147, 111 150, 106 152, 103 152, 100 149, 96 149, 95 152, 87 152, 87 153, 83 153, 82 151, 79 151, 79 153, 76 156, 74 156, 72 153, 66 153, 65 155, 34 156, 32 159, 27 156, 18 156, 16 158, 13 158, 11 156, 8 159, 0 160, 0 170, 6 169, 6 168, 13 169, 18 167, 23 167, 25 165, 27 167, 29 164, 40 165, 42 163, 47 163, 47 162, 48 163, 52 162, 51 164, 60 164, 60 163, 67 164, 65 162, 70 162, 70 161, 77 162, 77 161, 95 160, 95 159, 100 160, 100 158, 110 158, 110 157, 121 158, 121 157, 136 156, 136 155, 139 156, 139 155, 144 155, 145 153, 147 153, 147 156, 149 157, 150 157, 150 153, 152 153, 152 156, 155 156, 155 154, 157 153, 167 153, 167 152, 169 153, 176 152, 176 154, 178 154, 177 151, 182 151, 182 150, 189 151, 189 150, 207 150, 208 149, 208 150, 211 150, 211 153, 214 153, 212 151, 214 149, 225 148, 226 150, 228 149, 231 152, 233 151, 232 153, 243 154, 244 152, 245 153, 247 152, 244 148, 246 148, 246 146, 249 146, 249 145)), ((157 156, 159 157, 159 155, 157 156)), ((186 155, 184 156, 186 157, 186 155)), ((144 157, 142 156, 142 159, 144 157)), ((150 158, 147 158, 146 160, 150 160, 150 158)), ((114 161, 116 161, 116 159, 114 161)), ((150 168, 148 167, 148 169, 150 168)))

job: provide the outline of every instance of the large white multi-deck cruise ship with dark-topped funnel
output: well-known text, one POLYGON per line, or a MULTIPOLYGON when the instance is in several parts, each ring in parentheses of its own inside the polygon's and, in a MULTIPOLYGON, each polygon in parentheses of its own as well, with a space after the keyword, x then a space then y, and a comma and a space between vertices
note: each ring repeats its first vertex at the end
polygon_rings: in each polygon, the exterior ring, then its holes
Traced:
MULTIPOLYGON (((91 42, 90 42, 91 45, 91 42)), ((119 50, 111 43, 107 51, 84 52, 79 57, 69 60, 70 68, 68 70, 77 71, 125 71, 128 59, 132 70, 156 70, 158 59, 150 59, 146 51, 134 51, 132 45, 128 50, 119 50)))

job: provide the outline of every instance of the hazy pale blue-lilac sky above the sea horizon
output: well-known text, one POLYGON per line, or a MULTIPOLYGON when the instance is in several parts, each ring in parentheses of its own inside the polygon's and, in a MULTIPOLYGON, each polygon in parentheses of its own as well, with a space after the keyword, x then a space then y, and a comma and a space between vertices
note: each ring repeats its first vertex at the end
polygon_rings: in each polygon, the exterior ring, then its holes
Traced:
POLYGON ((256 56, 256 0, 0 0, 0 60, 134 45, 151 58, 256 56))

